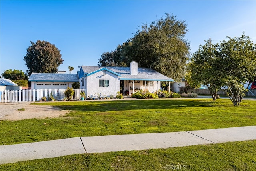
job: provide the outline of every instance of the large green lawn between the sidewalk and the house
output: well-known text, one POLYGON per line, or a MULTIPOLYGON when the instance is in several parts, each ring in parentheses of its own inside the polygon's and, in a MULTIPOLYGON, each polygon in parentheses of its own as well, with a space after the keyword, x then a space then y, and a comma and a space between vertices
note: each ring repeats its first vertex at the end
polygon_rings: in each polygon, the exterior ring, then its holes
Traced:
POLYGON ((256 101, 114 100, 33 103, 72 110, 60 118, 0 121, 0 145, 70 137, 157 133, 256 125, 256 101))

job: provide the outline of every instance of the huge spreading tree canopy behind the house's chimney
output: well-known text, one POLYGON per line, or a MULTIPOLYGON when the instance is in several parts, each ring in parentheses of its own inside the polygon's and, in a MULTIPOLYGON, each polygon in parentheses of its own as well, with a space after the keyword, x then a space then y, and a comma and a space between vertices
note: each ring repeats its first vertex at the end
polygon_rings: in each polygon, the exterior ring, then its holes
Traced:
POLYGON ((184 39, 185 21, 166 14, 156 22, 140 26, 133 38, 116 50, 103 53, 99 66, 129 66, 131 61, 139 67, 152 68, 174 80, 180 81, 185 74, 190 44, 184 39))

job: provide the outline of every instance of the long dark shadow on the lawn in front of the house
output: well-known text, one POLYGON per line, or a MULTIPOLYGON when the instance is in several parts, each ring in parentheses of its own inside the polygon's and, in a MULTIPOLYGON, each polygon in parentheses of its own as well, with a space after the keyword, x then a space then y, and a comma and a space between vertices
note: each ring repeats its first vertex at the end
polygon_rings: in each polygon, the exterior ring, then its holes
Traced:
POLYGON ((184 107, 212 107, 213 101, 184 100, 127 100, 127 101, 88 101, 74 105, 59 105, 61 109, 74 111, 125 111, 141 109, 179 109, 184 107))

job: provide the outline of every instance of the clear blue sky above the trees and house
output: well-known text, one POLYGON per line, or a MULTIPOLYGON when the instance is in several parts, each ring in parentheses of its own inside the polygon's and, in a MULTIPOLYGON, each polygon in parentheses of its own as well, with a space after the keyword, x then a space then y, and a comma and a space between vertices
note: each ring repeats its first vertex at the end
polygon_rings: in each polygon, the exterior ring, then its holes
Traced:
MULTIPOLYGON (((0 74, 22 70, 30 41, 46 40, 61 50, 59 70, 96 66, 103 52, 132 38, 142 23, 165 13, 185 20, 190 52, 204 40, 239 37, 256 43, 256 1, 0 1, 0 74)), ((218 41, 212 41, 217 43, 218 41)))

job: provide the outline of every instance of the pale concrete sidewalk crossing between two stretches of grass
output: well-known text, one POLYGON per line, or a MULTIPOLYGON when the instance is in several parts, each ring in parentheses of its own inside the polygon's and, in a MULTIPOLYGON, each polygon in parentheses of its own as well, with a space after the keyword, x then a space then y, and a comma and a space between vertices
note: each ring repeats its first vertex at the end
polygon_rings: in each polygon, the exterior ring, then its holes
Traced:
POLYGON ((256 139, 256 126, 171 133, 76 137, 0 146, 0 164, 72 154, 145 150, 256 139))

